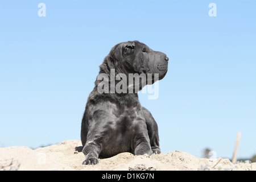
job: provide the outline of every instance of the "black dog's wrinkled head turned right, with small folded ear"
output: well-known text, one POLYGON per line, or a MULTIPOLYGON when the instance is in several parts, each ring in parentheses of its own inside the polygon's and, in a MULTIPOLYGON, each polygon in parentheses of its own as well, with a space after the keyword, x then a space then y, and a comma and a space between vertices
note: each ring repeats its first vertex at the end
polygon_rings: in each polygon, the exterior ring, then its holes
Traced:
POLYGON ((122 42, 110 51, 114 64, 122 66, 129 73, 158 73, 159 80, 166 76, 168 57, 165 53, 154 51, 138 41, 122 42))

